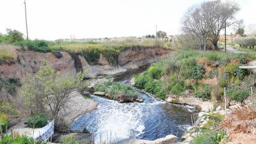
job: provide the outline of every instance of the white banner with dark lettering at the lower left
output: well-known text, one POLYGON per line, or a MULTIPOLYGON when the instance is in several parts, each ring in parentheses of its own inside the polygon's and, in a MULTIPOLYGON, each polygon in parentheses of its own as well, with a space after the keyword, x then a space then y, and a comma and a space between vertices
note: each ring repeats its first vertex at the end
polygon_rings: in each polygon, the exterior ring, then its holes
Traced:
POLYGON ((52 134, 54 134, 54 120, 42 127, 38 132, 34 134, 34 140, 42 139, 44 141, 49 140, 52 134))

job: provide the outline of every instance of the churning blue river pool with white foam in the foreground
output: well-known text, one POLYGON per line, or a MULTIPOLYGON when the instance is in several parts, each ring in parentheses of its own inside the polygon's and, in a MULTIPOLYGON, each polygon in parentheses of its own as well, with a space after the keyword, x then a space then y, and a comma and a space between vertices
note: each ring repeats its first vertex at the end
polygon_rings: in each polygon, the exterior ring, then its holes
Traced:
POLYGON ((140 92, 144 102, 118 103, 91 95, 99 102, 92 113, 80 116, 72 124, 73 130, 86 128, 95 133, 95 142, 123 141, 129 138, 156 140, 173 134, 180 138, 191 126, 191 106, 168 104, 140 92))

